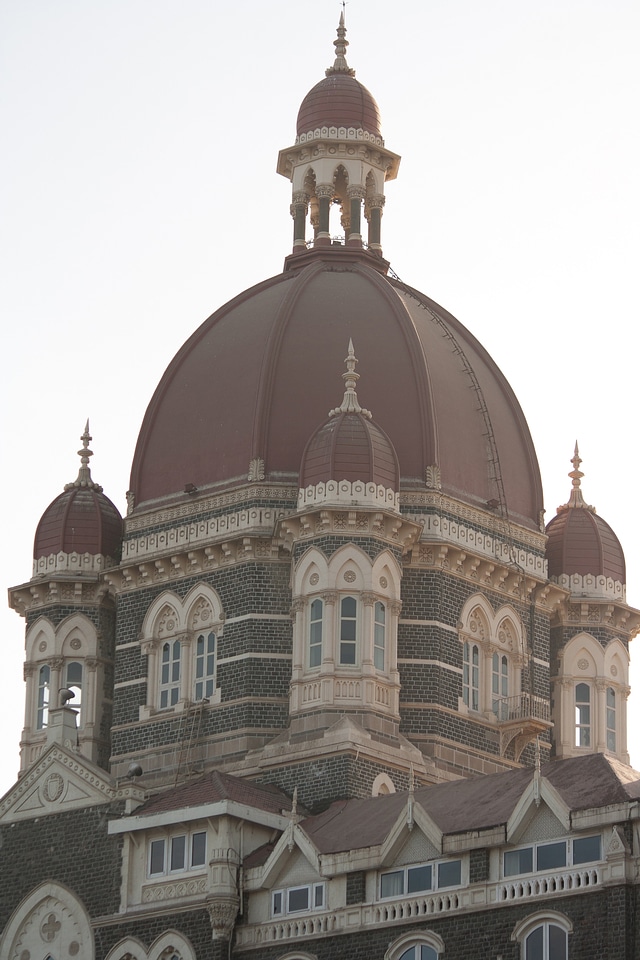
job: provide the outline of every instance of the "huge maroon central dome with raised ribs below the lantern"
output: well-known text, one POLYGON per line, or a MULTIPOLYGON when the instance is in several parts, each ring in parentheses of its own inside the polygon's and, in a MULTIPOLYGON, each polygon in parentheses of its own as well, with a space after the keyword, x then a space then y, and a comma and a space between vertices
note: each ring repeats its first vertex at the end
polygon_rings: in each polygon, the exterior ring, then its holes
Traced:
POLYGON ((404 487, 424 489, 427 467, 437 465, 444 492, 478 506, 500 501, 497 453, 509 515, 539 529, 529 430, 478 341, 432 300, 383 276, 373 256, 340 247, 300 261, 221 307, 169 365, 138 438, 136 508, 184 496, 187 484, 244 483, 257 458, 267 481, 298 484, 351 338, 404 487))

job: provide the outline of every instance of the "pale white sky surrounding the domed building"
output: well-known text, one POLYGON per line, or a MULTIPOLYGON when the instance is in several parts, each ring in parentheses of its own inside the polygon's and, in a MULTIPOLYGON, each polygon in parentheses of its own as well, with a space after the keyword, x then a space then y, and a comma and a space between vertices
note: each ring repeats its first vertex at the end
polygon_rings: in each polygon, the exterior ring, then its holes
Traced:
MULTIPOLYGON (((86 418, 93 477, 124 513, 171 357, 281 270, 292 226, 276 158, 333 62, 339 13, 335 0, 0 0, 5 585, 31 576, 86 418)), ((585 498, 620 537, 640 606, 640 5, 352 0, 347 26, 349 63, 403 158, 385 255, 510 380, 548 519, 578 438, 585 498)), ((24 621, 1 615, 0 794, 24 690, 24 621)), ((640 767, 640 647, 633 663, 640 767)))

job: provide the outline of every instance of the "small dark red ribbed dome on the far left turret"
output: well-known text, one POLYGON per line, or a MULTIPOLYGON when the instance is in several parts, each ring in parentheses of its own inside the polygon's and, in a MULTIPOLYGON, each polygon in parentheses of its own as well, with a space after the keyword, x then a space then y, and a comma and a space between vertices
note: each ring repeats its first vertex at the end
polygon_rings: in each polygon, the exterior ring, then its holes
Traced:
POLYGON ((47 507, 36 530, 35 560, 58 553, 89 553, 118 559, 122 517, 103 493, 87 487, 65 490, 47 507))

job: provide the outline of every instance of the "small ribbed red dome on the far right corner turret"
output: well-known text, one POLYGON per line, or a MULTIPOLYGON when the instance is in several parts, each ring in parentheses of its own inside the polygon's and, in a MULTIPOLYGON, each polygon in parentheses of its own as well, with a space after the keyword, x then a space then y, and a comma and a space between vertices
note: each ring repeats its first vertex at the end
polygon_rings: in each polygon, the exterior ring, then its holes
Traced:
POLYGON ((620 541, 609 524, 584 507, 567 507, 547 524, 549 576, 579 574, 626 582, 620 541))

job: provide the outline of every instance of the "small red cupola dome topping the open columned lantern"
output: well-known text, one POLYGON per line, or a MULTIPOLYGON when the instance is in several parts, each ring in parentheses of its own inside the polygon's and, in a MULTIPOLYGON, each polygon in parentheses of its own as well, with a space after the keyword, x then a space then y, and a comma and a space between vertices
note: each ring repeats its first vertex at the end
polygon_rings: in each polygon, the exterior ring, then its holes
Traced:
POLYGON ((298 136, 322 127, 352 127, 379 137, 378 104, 355 77, 332 74, 312 87, 298 111, 298 136))

